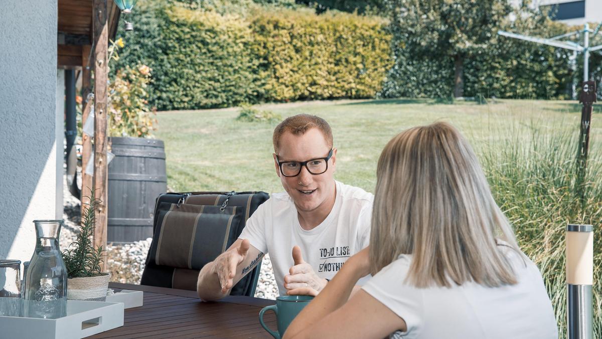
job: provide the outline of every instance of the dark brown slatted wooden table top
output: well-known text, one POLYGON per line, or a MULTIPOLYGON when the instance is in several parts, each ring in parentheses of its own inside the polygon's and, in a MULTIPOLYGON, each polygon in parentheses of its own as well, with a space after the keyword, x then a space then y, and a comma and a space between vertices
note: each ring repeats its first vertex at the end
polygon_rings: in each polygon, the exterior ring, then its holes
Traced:
MULTIPOLYGON (((123 326, 90 338, 272 338, 259 324, 259 311, 274 300, 229 296, 201 302, 196 291, 110 283, 114 290, 144 291, 144 305, 125 310, 123 326)), ((273 312, 265 323, 276 329, 273 312)))

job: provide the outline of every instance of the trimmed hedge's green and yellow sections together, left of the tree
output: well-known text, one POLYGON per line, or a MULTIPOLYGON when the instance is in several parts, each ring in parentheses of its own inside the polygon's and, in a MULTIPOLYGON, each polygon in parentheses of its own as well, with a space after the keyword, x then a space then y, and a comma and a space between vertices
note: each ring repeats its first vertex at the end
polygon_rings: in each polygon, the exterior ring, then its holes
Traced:
POLYGON ((134 34, 117 34, 126 41, 117 68, 150 66, 149 103, 159 110, 370 98, 391 66, 378 17, 266 7, 243 17, 144 3, 134 34))

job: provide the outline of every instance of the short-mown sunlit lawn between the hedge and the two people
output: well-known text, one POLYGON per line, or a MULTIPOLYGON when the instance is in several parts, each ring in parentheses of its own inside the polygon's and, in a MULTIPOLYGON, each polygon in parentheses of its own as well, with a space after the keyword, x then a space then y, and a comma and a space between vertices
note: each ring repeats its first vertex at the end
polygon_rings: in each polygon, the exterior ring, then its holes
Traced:
MULTIPOLYGON (((282 117, 310 113, 332 126, 338 148, 335 177, 373 192, 380 151, 405 128, 433 121, 452 122, 478 149, 483 143, 524 133, 517 125, 536 124, 554 133, 579 128, 575 101, 496 100, 493 103, 434 100, 312 101, 266 104, 282 117)), ((237 109, 159 112, 158 139, 166 145, 167 184, 174 191, 282 191, 272 159, 276 123, 238 122, 237 109)), ((592 136, 600 128, 594 119, 592 136)))

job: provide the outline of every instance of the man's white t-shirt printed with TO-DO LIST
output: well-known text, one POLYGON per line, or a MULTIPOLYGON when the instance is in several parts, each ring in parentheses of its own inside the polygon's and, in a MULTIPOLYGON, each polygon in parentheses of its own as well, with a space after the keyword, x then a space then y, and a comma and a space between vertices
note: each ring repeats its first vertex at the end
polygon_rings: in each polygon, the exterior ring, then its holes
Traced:
POLYGON ((302 229, 293 199, 287 193, 276 193, 257 208, 238 237, 249 239, 262 253, 270 253, 281 296, 287 292, 284 276, 294 264, 293 246, 301 248, 303 260, 319 277, 332 279, 350 256, 370 242, 374 196, 361 188, 335 183, 335 204, 314 229, 302 229))

